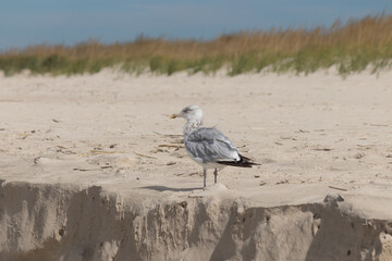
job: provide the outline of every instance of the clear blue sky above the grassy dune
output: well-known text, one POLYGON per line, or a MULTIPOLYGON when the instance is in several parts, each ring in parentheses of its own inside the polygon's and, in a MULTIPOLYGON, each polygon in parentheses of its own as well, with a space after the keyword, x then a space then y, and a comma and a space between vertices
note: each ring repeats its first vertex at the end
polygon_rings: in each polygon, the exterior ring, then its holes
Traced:
POLYGON ((392 0, 1 0, 0 50, 140 34, 210 39, 222 33, 331 25, 392 13, 392 0))

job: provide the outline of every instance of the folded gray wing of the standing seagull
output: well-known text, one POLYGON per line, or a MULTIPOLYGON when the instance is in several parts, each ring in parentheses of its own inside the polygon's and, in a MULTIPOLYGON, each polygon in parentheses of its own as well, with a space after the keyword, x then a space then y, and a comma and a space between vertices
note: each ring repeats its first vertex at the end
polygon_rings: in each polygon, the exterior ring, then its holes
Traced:
POLYGON ((185 148, 193 158, 203 162, 241 159, 235 146, 216 128, 201 127, 192 132, 185 138, 185 148))

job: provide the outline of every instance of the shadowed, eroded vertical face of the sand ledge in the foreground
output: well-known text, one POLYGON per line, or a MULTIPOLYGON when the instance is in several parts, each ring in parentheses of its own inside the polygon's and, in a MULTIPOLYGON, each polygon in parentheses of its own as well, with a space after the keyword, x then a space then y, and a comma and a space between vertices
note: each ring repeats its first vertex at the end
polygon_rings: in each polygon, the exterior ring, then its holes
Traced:
POLYGON ((360 217, 335 197, 264 208, 213 195, 157 201, 19 182, 2 183, 0 195, 0 260, 392 258, 391 220, 360 217))

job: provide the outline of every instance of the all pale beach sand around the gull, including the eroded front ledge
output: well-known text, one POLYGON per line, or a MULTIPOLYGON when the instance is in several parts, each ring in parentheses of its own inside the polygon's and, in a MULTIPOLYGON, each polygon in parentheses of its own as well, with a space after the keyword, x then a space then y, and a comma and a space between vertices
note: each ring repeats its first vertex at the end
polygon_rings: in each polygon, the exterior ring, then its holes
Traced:
POLYGON ((391 83, 0 76, 0 260, 392 260, 391 83), (261 165, 203 190, 188 104, 261 165))

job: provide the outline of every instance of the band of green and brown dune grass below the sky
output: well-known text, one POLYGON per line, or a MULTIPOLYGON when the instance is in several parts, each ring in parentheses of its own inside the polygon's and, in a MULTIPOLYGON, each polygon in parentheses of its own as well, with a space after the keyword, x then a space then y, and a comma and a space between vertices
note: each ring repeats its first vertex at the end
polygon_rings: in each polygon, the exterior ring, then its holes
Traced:
POLYGON ((392 15, 368 16, 330 28, 270 29, 222 35, 213 40, 166 40, 139 37, 133 42, 102 45, 90 40, 73 47, 34 46, 0 53, 5 75, 97 73, 119 66, 128 73, 179 71, 229 75, 247 72, 313 73, 335 65, 341 75, 391 67, 392 15))

